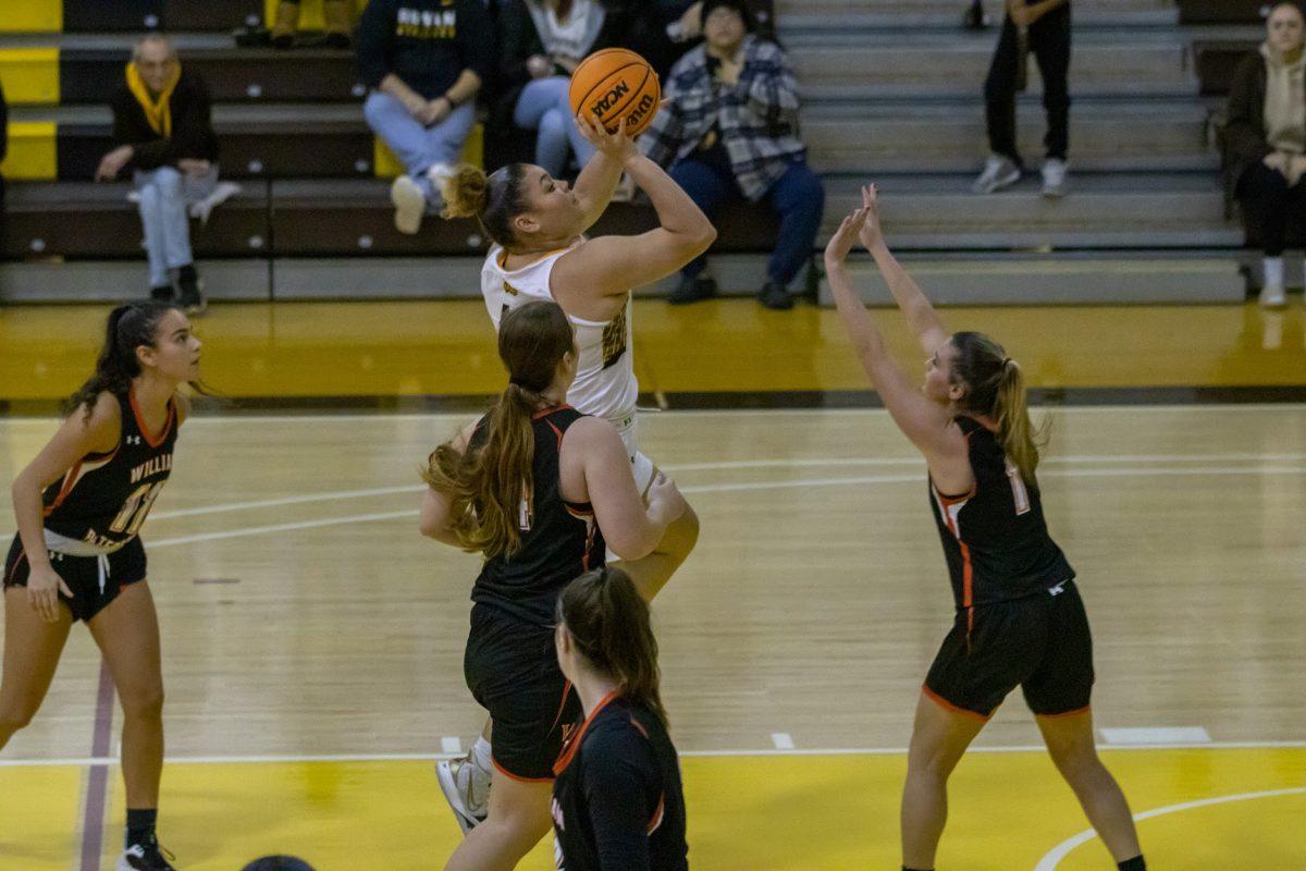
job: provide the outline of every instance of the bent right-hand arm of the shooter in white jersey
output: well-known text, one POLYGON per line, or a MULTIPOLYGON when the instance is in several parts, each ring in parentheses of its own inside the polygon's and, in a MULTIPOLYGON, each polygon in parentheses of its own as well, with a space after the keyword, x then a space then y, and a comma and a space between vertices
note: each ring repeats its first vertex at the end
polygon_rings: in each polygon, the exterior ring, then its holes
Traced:
POLYGON ((598 296, 626 294, 678 272, 716 242, 708 215, 662 167, 631 146, 622 168, 649 196, 661 226, 639 236, 599 236, 559 257, 555 287, 585 287, 598 296))

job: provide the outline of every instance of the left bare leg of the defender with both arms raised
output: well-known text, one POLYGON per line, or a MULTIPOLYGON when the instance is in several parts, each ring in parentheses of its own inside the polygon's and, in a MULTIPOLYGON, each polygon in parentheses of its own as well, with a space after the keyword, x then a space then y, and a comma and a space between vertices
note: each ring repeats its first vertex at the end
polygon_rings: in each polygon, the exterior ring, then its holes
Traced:
POLYGON ((902 867, 926 871, 948 820, 948 777, 986 718, 922 692, 902 786, 902 867))

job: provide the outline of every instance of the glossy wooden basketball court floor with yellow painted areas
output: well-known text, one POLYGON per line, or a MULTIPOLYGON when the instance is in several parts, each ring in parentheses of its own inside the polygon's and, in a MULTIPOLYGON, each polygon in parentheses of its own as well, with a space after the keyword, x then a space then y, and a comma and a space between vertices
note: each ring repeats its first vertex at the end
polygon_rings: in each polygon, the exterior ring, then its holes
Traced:
MULTIPOLYGON (((951 612, 923 466, 874 409, 675 410, 730 389, 738 404, 857 389, 828 312, 639 309, 641 377, 673 409, 645 417, 643 441, 703 517, 697 552, 654 609, 692 867, 897 867, 901 748, 951 612)), ((0 309, 0 397, 34 411, 0 419, 10 477, 56 424, 40 404, 90 366, 103 313, 0 309)), ((1268 317, 947 316, 991 330, 1037 387, 1070 396, 1247 398, 1306 381, 1299 303, 1268 317)), ((468 414, 375 406, 495 389, 482 320, 470 306, 394 304, 202 321, 206 375, 230 396, 359 407, 212 406, 183 428, 144 533, 168 688, 161 831, 179 868, 236 871, 268 853, 321 871, 438 868, 454 845, 431 760, 482 718, 461 675, 477 560, 417 534, 415 470, 468 414)), ((1045 413, 1041 481, 1093 620, 1104 755, 1152 867, 1306 868, 1306 405, 1045 413)), ((46 706, 0 755, 0 871, 111 867, 114 705, 74 632, 46 706)), ((953 781, 940 868, 1110 867, 1019 695, 977 747, 953 781)), ((551 867, 547 845, 522 867, 551 867)))

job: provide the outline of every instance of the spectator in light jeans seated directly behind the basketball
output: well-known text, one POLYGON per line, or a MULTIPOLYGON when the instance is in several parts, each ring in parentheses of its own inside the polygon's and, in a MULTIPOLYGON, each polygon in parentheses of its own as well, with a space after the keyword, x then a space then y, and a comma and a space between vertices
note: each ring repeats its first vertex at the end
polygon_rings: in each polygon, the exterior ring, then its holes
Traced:
POLYGON ((589 54, 632 47, 632 17, 607 0, 509 0, 499 16, 499 97, 491 127, 535 132, 537 166, 564 178, 594 157, 572 116, 571 74, 589 54))

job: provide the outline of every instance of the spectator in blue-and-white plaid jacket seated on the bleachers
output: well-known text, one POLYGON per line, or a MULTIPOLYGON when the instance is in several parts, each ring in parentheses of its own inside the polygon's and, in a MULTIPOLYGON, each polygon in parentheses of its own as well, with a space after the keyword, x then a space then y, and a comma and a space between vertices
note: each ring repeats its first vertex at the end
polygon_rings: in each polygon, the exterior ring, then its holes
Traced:
MULTIPOLYGON (((653 161, 710 218, 729 200, 765 200, 780 214, 780 238, 757 300, 791 308, 789 283, 811 261, 825 192, 798 138, 798 84, 785 52, 754 35, 744 0, 705 0, 707 40, 671 69, 669 101, 640 137, 653 161)), ((716 282, 699 257, 680 273, 673 304, 708 299, 716 282)))

